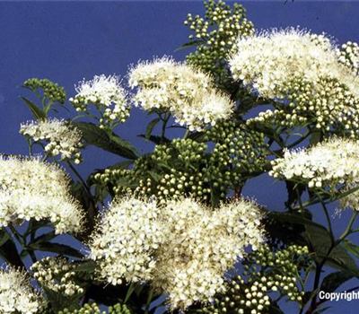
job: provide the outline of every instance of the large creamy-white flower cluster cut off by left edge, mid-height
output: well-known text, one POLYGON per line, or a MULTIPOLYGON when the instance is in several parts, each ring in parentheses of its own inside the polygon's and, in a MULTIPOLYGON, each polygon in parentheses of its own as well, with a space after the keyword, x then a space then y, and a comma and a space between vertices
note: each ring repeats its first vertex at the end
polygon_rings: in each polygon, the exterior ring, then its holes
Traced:
POLYGON ((0 156, 0 228, 48 219, 57 233, 81 231, 83 212, 69 192, 64 170, 39 158, 0 156))

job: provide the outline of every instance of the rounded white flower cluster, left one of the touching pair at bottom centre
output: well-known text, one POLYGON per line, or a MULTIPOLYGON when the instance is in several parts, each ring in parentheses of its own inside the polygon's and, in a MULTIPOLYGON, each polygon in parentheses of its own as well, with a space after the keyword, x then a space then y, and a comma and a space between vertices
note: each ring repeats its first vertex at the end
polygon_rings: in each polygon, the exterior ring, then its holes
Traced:
POLYGON ((159 211, 155 202, 135 198, 124 198, 109 206, 90 246, 90 257, 100 260, 101 276, 109 283, 152 278, 153 252, 164 240, 159 211))

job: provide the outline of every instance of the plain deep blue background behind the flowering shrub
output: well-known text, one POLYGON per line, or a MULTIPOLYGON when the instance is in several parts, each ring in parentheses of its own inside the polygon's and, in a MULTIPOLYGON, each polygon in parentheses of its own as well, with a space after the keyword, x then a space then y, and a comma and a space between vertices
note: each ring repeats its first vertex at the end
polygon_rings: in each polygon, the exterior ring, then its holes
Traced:
MULTIPOLYGON (((229 2, 228 2, 229 3, 229 2)), ((359 41, 359 2, 356 1, 242 1, 248 18, 257 29, 300 25, 313 32, 326 32, 344 43, 359 41)), ((20 85, 30 77, 48 78, 74 96, 74 84, 95 74, 127 74, 138 59, 173 55, 183 60, 188 51, 174 50, 188 41, 183 25, 187 13, 203 13, 200 1, 0 1, 0 152, 26 154, 25 140, 18 134, 20 124, 31 119, 19 99, 26 94, 20 85)), ((61 116, 68 118, 64 110, 61 116)), ((133 109, 127 124, 118 126, 119 135, 139 151, 151 144, 136 135, 144 133, 147 117, 133 109)), ((106 167, 118 157, 89 148, 79 167, 87 176, 106 167)), ((281 210, 285 188, 263 175, 244 189, 259 204, 281 210)), ((313 208, 321 221, 318 208, 313 208)), ((334 213, 334 207, 332 208, 334 213)), ((337 234, 346 227, 348 214, 334 217, 337 234)), ((352 238, 355 243, 359 239, 352 238)), ((352 280, 346 288, 359 283, 352 280)), ((332 302, 328 313, 357 313, 359 301, 332 302)), ((294 313, 284 306, 285 313, 294 313)))

